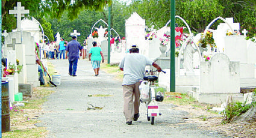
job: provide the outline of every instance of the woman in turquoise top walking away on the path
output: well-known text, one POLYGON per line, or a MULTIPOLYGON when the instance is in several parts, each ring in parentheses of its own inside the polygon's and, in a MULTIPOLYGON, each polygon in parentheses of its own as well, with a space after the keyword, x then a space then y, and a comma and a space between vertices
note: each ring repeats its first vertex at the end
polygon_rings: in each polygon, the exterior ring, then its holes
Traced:
POLYGON ((101 67, 101 59, 102 63, 104 63, 104 56, 101 47, 97 46, 96 41, 94 41, 92 44, 93 47, 90 48, 89 52, 89 61, 92 61, 92 68, 95 72, 95 76, 99 76, 99 67, 101 67))

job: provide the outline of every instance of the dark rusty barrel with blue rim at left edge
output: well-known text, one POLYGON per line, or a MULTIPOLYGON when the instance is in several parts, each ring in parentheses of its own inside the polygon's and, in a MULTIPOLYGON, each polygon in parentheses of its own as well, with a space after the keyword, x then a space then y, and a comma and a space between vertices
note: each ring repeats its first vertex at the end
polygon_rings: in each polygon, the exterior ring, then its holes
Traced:
POLYGON ((2 81, 2 133, 11 131, 9 83, 2 81))

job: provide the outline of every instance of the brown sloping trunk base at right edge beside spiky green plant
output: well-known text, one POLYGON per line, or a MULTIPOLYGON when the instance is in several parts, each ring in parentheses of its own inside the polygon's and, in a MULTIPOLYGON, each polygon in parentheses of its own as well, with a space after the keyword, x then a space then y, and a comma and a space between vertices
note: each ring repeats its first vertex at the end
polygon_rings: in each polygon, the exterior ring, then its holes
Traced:
POLYGON ((256 107, 251 106, 251 108, 246 112, 243 113, 238 118, 234 119, 232 122, 239 123, 239 122, 256 122, 256 107))

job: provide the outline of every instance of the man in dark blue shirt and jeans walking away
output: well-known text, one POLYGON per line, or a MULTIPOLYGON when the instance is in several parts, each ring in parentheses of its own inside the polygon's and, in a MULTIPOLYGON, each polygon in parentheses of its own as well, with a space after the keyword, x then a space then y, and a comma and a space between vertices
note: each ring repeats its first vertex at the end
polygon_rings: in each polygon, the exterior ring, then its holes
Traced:
POLYGON ((72 40, 67 44, 66 47, 66 59, 67 53, 69 53, 69 75, 76 76, 76 68, 79 56, 82 56, 83 47, 76 41, 76 36, 72 36, 72 40), (80 51, 80 55, 79 55, 80 51))

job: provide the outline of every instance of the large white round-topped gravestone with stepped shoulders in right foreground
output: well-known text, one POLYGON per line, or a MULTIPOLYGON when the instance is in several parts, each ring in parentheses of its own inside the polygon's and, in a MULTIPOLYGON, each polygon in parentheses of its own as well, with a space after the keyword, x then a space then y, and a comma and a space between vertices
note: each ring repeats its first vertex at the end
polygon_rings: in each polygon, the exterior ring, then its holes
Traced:
POLYGON ((217 53, 210 61, 201 62, 198 101, 219 104, 227 96, 241 95, 239 68, 239 62, 229 61, 224 53, 217 53))

